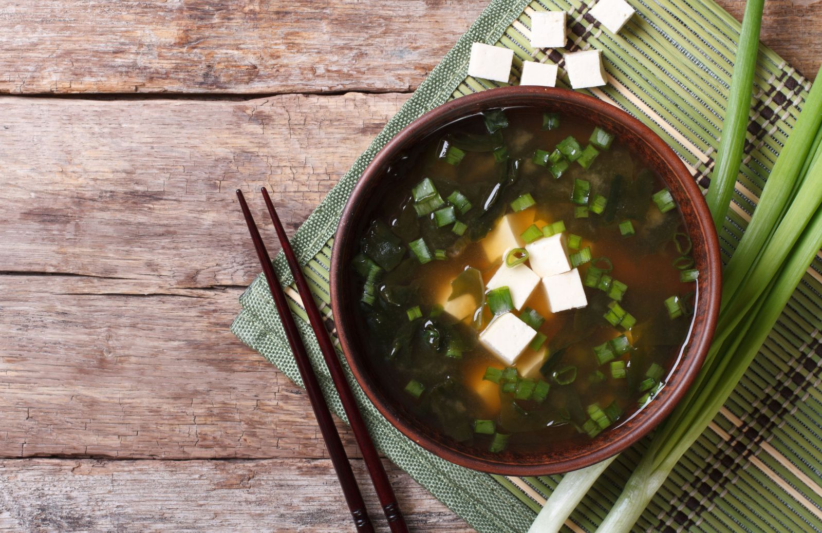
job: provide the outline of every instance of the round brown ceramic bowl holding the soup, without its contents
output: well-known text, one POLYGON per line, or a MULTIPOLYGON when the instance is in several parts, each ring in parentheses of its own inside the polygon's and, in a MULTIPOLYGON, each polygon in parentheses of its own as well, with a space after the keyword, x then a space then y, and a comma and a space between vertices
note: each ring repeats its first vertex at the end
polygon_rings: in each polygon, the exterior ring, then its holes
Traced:
POLYGON ((717 234, 708 206, 681 159, 653 131, 621 109, 574 91, 504 87, 464 96, 426 113, 400 131, 368 165, 345 206, 337 230, 331 260, 331 305, 339 341, 354 377, 382 415, 409 439, 460 466, 503 475, 541 476, 577 470, 620 453, 672 411, 699 371, 713 338, 719 310, 720 269, 717 234), (658 397, 630 420, 588 443, 548 454, 494 454, 464 447, 445 438, 432 427, 423 425, 403 407, 388 400, 376 384, 369 361, 360 355, 364 352, 365 341, 359 338, 353 323, 358 316, 358 299, 349 285, 349 265, 358 253, 358 239, 370 217, 370 202, 367 200, 386 186, 382 181, 390 162, 424 136, 460 117, 490 108, 517 106, 560 111, 564 117, 584 117, 584 120, 616 133, 634 153, 641 154, 650 167, 663 177, 677 200, 694 244, 696 268, 701 273, 690 336, 681 351, 676 369, 658 397))

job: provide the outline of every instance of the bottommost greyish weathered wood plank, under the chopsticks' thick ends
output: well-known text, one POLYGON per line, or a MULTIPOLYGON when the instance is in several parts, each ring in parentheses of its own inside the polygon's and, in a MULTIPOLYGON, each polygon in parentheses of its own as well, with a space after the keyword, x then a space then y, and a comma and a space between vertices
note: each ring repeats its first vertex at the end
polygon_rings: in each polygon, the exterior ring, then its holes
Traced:
MULTIPOLYGON (((388 531, 353 462, 376 531, 388 531)), ((473 531, 386 462, 411 531, 473 531)), ((2 531, 353 531, 329 460, 0 461, 2 531)))

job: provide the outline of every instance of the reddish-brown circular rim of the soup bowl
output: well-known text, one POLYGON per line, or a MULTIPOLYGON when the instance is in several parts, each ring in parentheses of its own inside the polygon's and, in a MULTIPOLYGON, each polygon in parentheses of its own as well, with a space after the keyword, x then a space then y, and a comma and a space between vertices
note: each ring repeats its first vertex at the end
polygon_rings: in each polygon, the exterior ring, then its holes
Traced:
MULTIPOLYGON (((665 181, 667 186, 672 188, 667 177, 665 181)), ((672 193, 677 195, 679 191, 672 191, 672 193)), ((353 242, 356 242, 356 238, 353 242)), ((443 103, 409 123, 380 149, 359 177, 341 214, 331 251, 330 296, 336 333, 349 368, 368 399, 381 415, 389 420, 391 425, 427 451, 459 466, 506 476, 544 476, 575 471, 620 453, 644 437, 645 434, 648 434, 650 430, 653 430, 676 407, 681 397, 690 388, 696 374, 698 374, 713 339, 721 300, 722 261, 720 259, 716 228, 713 225, 708 205, 705 203, 699 187, 680 157, 648 126, 645 126, 621 108, 617 108, 616 105, 593 98, 593 96, 587 94, 566 89, 508 86, 485 90, 443 103), (506 100, 515 100, 516 103, 506 104, 506 100), (683 347, 687 347, 687 349, 681 350, 671 379, 660 392, 657 401, 651 402, 648 407, 637 411, 637 416, 615 428, 618 431, 626 425, 630 425, 628 429, 623 430, 622 434, 617 435, 616 439, 608 439, 607 442, 601 443, 599 446, 584 447, 580 453, 569 454, 569 457, 559 461, 544 463, 492 461, 483 457, 469 456, 455 448, 450 448, 446 443, 421 433, 413 425, 413 422, 404 420, 394 410, 390 409, 386 405, 388 403, 386 402, 387 398, 377 390, 376 385, 367 379, 363 368, 358 365, 358 358, 354 356, 357 350, 355 330, 351 329, 349 331, 343 327, 350 319, 345 315, 345 310, 342 308, 344 294, 349 290, 343 287, 344 281, 342 281, 345 279, 343 270, 345 265, 342 264, 344 247, 351 246, 352 237, 357 237, 352 235, 353 230, 357 227, 355 211, 360 204, 363 204, 363 200, 365 200, 363 195, 366 195, 369 189, 375 186, 374 182, 384 175, 383 170, 386 165, 404 149, 407 143, 413 143, 413 140, 418 136, 425 136, 459 117, 478 113, 484 109, 524 107, 528 105, 539 107, 541 104, 544 106, 549 101, 552 103, 567 103, 576 108, 589 108, 600 116, 604 115, 612 122, 620 123, 621 126, 624 126, 644 141, 649 149, 653 150, 658 158, 663 160, 664 165, 658 166, 657 169, 667 167, 665 174, 672 177, 672 180, 676 181, 677 186, 684 192, 685 198, 679 199, 678 203, 681 204, 683 199, 690 200, 689 209, 694 211, 695 217, 688 223, 689 233, 698 233, 704 237, 702 244, 704 245, 708 271, 700 274, 700 278, 697 280, 700 297, 697 301, 695 319, 692 322, 689 337, 683 344, 683 347), (697 315, 700 317, 701 329, 698 336, 693 331, 693 324, 698 321, 697 315)), ((609 432, 609 434, 612 433, 613 431, 609 432)), ((592 439, 591 443, 597 443, 597 440, 592 439)))

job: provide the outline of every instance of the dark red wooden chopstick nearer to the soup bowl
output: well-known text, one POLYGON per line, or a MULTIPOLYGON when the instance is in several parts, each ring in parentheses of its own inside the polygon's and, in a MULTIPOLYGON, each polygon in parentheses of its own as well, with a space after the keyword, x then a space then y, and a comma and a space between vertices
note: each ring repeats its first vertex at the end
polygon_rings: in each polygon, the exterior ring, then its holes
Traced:
POLYGON ((294 282, 297 284, 297 290, 302 299, 302 306, 305 307, 306 314, 314 330, 314 335, 316 335, 316 340, 320 344, 322 356, 326 360, 326 366, 328 366, 331 379, 334 381, 337 393, 339 393, 339 400, 343 404, 345 415, 349 418, 349 424, 351 425, 354 438, 357 439, 360 450, 363 452, 363 460, 368 468, 368 474, 371 476, 374 489, 376 489, 376 495, 380 499, 382 510, 386 513, 390 530, 393 533, 408 533, 408 526, 405 525, 403 514, 399 510, 399 504, 397 503, 394 489, 391 488, 390 481, 386 475, 386 469, 382 466, 379 454, 376 453, 371 435, 368 434, 367 426, 357 406, 357 401, 351 392, 349 382, 345 379, 343 367, 339 364, 334 344, 331 342, 328 330, 326 330, 326 325, 322 320, 320 310, 316 308, 314 296, 312 296, 311 290, 308 288, 306 278, 302 275, 302 269, 300 268, 297 256, 294 255, 294 250, 291 248, 289 237, 285 234, 283 224, 279 222, 277 210, 274 209, 274 204, 271 203, 271 198, 268 195, 268 191, 266 191, 266 187, 262 187, 261 191, 263 199, 266 200, 266 207, 268 207, 271 222, 274 223, 279 244, 283 248, 285 259, 289 262, 289 268, 294 277, 294 282))

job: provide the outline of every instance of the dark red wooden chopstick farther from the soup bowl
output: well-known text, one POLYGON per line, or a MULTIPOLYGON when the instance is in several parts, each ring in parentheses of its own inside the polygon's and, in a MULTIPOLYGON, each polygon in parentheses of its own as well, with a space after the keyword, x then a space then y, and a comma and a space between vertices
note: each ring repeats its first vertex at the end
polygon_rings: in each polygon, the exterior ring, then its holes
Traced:
POLYGON ((314 416, 316 416, 316 420, 320 424, 320 431, 322 438, 326 441, 326 448, 328 448, 328 454, 331 457, 331 464, 334 465, 337 478, 339 479, 339 485, 343 488, 345 501, 349 505, 354 526, 356 526, 357 531, 373 533, 374 526, 371 523, 371 518, 368 517, 365 502, 363 502, 363 495, 360 494, 357 479, 351 470, 349 457, 345 454, 343 443, 339 440, 334 419, 331 418, 326 399, 322 395, 322 389, 312 369, 311 361, 308 359, 305 347, 302 346, 300 333, 297 329, 297 324, 294 324, 294 318, 291 315, 291 310, 289 310, 288 301, 285 299, 283 287, 279 286, 274 267, 271 266, 271 259, 266 250, 266 245, 263 244, 260 232, 257 230, 254 218, 252 218, 251 211, 248 210, 246 199, 242 196, 242 191, 239 189, 237 190, 237 198, 240 200, 242 215, 246 218, 248 232, 251 233, 252 241, 254 241, 254 248, 257 257, 260 259, 262 271, 266 274, 266 281, 268 282, 271 296, 274 298, 277 310, 279 311, 279 319, 282 320, 283 329, 285 329, 285 334, 289 338, 291 351, 294 354, 294 359, 297 361, 297 368, 302 376, 302 383, 306 387, 308 399, 311 401, 314 416))

